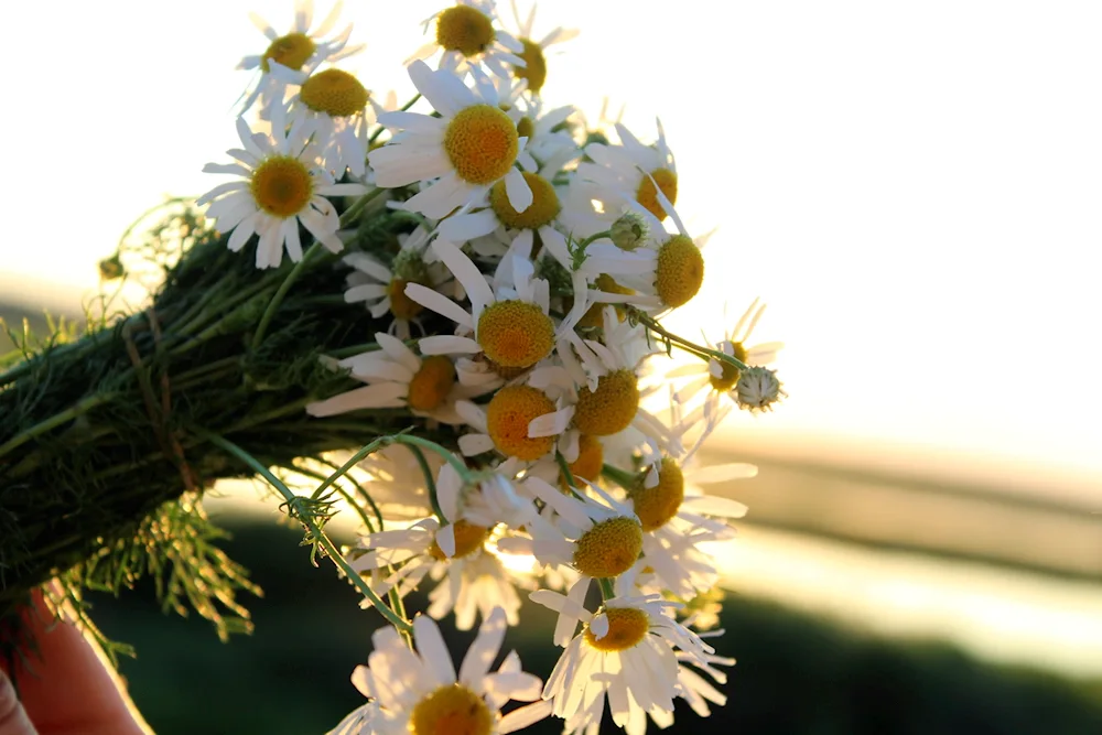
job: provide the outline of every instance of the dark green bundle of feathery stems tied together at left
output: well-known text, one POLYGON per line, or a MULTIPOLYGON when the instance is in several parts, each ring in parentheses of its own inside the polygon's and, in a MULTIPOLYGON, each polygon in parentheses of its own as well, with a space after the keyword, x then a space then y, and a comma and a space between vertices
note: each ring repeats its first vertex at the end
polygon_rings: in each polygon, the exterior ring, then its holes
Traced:
MULTIPOLYGON (((414 225, 371 201, 350 248, 390 260, 398 234, 414 225)), ((398 410, 309 417, 309 402, 358 385, 322 356, 360 349, 386 324, 344 302, 346 270, 327 252, 303 263, 269 310, 294 264, 258 271, 251 247, 234 253, 226 241, 172 199, 145 213, 107 259, 105 275, 120 278, 87 305, 82 336, 62 322, 47 323, 42 338, 9 329, 0 619, 50 579, 80 607, 85 590, 118 593, 149 576, 165 609, 195 610, 223 638, 249 630, 238 595, 259 588, 219 551, 223 534, 198 497, 253 471, 205 436, 227 437, 266 467, 292 468, 413 422, 398 410), (120 314, 117 296, 133 284, 150 289, 151 306, 120 314)), ((455 444, 446 429, 418 433, 455 444)), ((305 511, 324 523, 322 508, 305 511)))

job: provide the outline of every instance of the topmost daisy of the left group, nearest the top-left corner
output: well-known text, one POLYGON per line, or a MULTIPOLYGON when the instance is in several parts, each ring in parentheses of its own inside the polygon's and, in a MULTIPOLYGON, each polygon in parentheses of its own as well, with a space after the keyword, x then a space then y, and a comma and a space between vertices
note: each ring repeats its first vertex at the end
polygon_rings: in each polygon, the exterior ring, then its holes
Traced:
POLYGON ((282 102, 282 85, 271 75, 272 62, 292 71, 299 71, 304 66, 316 68, 324 62, 337 62, 363 51, 363 45, 348 45, 352 35, 352 23, 337 35, 326 39, 325 36, 333 30, 341 17, 339 0, 333 4, 329 14, 314 28, 313 24, 314 3, 313 0, 295 0, 294 3, 294 25, 283 35, 280 35, 268 21, 256 13, 249 13, 249 20, 260 29, 264 37, 270 42, 268 48, 262 54, 246 56, 237 65, 239 69, 260 69, 260 78, 251 90, 247 93, 245 105, 241 109, 244 115, 258 98, 262 98, 263 108, 268 108, 272 101, 282 102))

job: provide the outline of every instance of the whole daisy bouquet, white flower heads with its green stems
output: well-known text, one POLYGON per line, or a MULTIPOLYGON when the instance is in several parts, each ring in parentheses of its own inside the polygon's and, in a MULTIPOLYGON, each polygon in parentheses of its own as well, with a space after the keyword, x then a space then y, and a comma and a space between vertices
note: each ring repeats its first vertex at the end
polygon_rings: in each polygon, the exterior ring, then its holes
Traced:
POLYGON ((514 15, 429 19, 401 107, 341 67, 359 48, 339 6, 253 18, 240 147, 205 167, 226 180, 104 262, 152 278, 148 306, 20 338, 0 375, 0 613, 54 580, 90 627, 85 590, 151 575, 168 607, 248 629, 255 588, 202 496, 251 477, 389 623, 334 732, 595 732, 607 703, 637 733, 677 698, 723 703, 709 543, 745 508, 702 488, 755 471, 694 456, 784 396, 779 345, 747 346, 757 302, 704 344, 662 325, 706 240, 665 132, 545 105, 545 52, 573 33, 514 15), (558 613, 545 683, 515 652, 494 669, 525 596, 558 613), (478 626, 457 672, 437 620, 478 626))

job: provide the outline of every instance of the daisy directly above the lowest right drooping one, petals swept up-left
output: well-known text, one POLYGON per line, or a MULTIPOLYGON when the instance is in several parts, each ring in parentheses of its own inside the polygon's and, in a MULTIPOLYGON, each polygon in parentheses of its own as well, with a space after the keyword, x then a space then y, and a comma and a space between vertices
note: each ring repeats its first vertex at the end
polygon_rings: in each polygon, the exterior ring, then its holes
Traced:
POLYGON ((504 538, 507 553, 528 553, 543 564, 570 564, 585 577, 616 577, 631 569, 642 551, 642 528, 631 511, 599 487, 587 495, 563 494, 539 477, 527 477, 520 488, 542 500, 553 520, 540 516, 526 525, 531 538, 504 538))

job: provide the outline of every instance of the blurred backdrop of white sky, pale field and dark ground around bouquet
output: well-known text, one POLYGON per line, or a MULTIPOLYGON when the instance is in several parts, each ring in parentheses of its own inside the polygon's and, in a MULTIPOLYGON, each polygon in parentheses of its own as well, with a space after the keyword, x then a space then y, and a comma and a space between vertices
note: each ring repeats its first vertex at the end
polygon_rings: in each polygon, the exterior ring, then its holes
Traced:
MULTIPOLYGON (((346 1, 368 50, 345 67, 407 99, 401 62, 444 4, 346 1)), ((281 29, 292 2, 6 7, 29 62, 0 116, 9 323, 79 314, 138 214, 215 183, 234 67, 267 46, 249 11, 281 29)), ((549 102, 595 122, 607 97, 644 140, 660 116, 679 210, 717 228, 670 324, 716 338, 725 303, 761 296, 755 341, 787 343, 790 398, 705 455, 760 473, 719 490, 750 508, 719 550, 731 699, 676 728, 1102 732, 1102 8, 541 3, 536 35, 557 25, 582 34, 554 47, 549 102)), ((122 673, 159 733, 321 732, 360 703, 347 677, 378 620, 277 504, 219 495, 267 593, 256 633, 222 645, 144 590, 99 623, 138 647, 122 673)), ((508 642, 545 674, 549 620, 523 615, 542 627, 508 642)))

